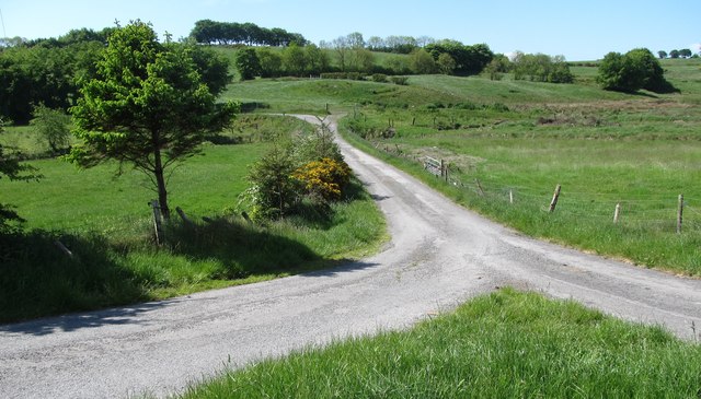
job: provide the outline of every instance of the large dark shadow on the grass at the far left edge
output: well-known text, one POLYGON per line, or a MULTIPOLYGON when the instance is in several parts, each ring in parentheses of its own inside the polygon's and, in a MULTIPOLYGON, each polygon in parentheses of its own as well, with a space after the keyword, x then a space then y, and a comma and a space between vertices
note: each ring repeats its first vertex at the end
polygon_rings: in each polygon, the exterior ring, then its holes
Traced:
POLYGON ((149 300, 103 237, 32 231, 1 234, 0 248, 0 322, 149 300))

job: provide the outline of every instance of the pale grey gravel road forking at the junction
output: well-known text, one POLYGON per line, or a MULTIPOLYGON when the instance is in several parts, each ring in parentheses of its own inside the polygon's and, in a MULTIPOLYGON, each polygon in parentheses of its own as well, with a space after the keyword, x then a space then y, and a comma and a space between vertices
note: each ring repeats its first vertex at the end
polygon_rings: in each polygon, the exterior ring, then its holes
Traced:
POLYGON ((392 239, 381 254, 260 284, 0 326, 0 397, 164 396, 225 365, 403 328, 505 285, 664 324, 686 339, 692 322, 701 328, 701 281, 524 237, 340 144, 387 216, 392 239))

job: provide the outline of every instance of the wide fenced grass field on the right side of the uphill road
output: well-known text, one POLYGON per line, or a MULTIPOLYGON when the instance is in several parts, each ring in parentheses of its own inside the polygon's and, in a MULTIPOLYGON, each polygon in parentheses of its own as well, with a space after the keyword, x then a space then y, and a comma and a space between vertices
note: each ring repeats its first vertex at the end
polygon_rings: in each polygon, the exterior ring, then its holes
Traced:
POLYGON ((679 93, 622 94, 574 67, 575 84, 505 77, 411 77, 410 85, 349 81, 260 81, 228 96, 291 112, 345 112, 367 151, 527 234, 689 275, 701 275, 701 61, 666 60, 679 93), (289 107, 289 108, 288 108, 289 107), (364 144, 365 143, 365 144, 364 144), (386 150, 386 151, 382 151, 386 150), (451 185, 421 168, 450 165, 451 185), (413 162, 410 162, 413 160, 413 162), (485 191, 481 196, 475 179, 485 191), (563 187, 548 214, 555 186, 563 187), (515 197, 512 206, 509 191, 515 197), (678 196, 682 234, 676 234, 678 196), (613 224, 617 203, 621 206, 613 224))

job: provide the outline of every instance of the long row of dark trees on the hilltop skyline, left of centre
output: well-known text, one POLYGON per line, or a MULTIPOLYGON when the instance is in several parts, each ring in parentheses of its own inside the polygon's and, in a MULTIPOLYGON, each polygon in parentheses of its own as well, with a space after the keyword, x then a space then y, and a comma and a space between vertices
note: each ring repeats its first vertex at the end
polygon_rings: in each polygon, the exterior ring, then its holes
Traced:
POLYGON ((261 27, 251 22, 200 20, 195 23, 189 36, 197 43, 208 45, 287 47, 292 43, 298 46, 308 44, 299 33, 290 33, 279 27, 261 27))

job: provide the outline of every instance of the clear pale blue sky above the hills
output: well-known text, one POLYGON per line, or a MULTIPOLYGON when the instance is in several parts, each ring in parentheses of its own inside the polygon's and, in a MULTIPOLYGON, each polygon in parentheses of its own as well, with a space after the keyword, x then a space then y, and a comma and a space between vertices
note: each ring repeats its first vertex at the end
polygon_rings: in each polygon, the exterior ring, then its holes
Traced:
POLYGON ((701 51, 701 0, 0 0, 0 12, 2 36, 30 39, 136 19, 180 38, 208 19, 281 27, 317 44, 352 32, 429 36, 570 61, 640 47, 701 51))

